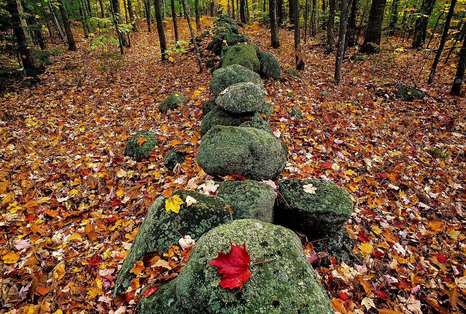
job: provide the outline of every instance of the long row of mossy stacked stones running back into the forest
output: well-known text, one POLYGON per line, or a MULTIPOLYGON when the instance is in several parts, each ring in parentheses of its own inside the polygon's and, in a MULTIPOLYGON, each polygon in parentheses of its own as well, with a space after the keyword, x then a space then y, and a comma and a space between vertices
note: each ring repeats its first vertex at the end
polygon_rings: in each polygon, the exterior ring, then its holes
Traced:
MULTIPOLYGON (((129 287, 134 278, 130 270, 144 254, 166 251, 183 234, 196 241, 190 259, 177 278, 149 297, 141 297, 139 313, 334 313, 300 238, 290 229, 317 241, 317 251, 348 262, 353 245, 343 225, 352 211, 349 193, 329 181, 281 179, 276 198, 274 188, 262 182, 276 180, 287 164, 287 147, 267 122, 272 108, 265 101, 260 78, 277 78, 280 66, 270 54, 259 59, 261 52, 247 38, 234 42, 231 38, 237 37, 229 35, 242 35, 237 34, 238 26, 227 14, 221 14, 214 23, 215 35, 209 47, 221 58, 209 84, 215 99, 203 106, 197 162, 211 176, 235 174, 247 179, 221 182, 217 196, 173 191, 169 198, 179 199, 178 212, 167 210, 167 199, 159 197, 123 261, 114 295, 129 287), (269 71, 272 63, 278 66, 275 77, 269 71), (196 203, 188 206, 188 197, 196 203), (216 266, 209 265, 219 252, 230 251, 230 242, 245 243, 251 263, 274 259, 250 267, 251 277, 240 289, 220 287, 221 275, 216 266)), ((131 155, 141 149, 135 144, 141 135, 139 132, 128 141, 127 156, 141 156, 140 152, 131 155)), ((173 150, 169 160, 165 158, 167 167, 175 167, 177 160, 183 162, 177 153, 181 152, 173 150)))

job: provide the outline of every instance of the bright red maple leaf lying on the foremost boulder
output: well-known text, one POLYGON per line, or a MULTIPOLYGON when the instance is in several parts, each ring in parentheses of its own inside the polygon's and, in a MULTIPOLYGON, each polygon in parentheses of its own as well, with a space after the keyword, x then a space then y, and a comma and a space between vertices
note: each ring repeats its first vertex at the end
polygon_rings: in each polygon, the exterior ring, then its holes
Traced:
POLYGON ((243 247, 233 245, 230 241, 230 253, 219 252, 217 258, 212 259, 209 265, 218 266, 217 272, 222 274, 220 287, 222 288, 240 288, 251 277, 249 271, 249 253, 246 251, 246 242, 243 247))

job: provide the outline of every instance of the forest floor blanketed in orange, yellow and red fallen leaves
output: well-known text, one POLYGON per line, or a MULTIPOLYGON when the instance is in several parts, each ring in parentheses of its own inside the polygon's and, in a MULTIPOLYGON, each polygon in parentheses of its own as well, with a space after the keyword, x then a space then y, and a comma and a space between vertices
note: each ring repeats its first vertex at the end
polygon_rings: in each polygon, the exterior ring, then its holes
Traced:
MULTIPOLYGON (((212 21, 202 24, 204 30, 212 21)), ((294 67, 292 32, 281 30, 282 47, 271 49, 266 28, 240 31, 277 56, 282 69, 294 67)), ((170 23, 166 37, 174 43, 170 23)), ((335 86, 335 57, 312 46, 320 41, 303 45, 301 79, 270 80, 265 89, 274 104, 272 129, 289 149, 282 177, 334 180, 355 202, 346 228, 363 259, 354 267, 316 267, 333 307, 464 313, 465 99, 448 96, 456 56, 438 68, 436 84, 423 85, 432 51, 401 49, 408 43, 393 38, 380 55, 345 61, 335 86), (417 82, 425 99, 397 100, 398 82, 417 82), (293 107, 302 121, 291 118, 293 107)), ((194 53, 161 62, 157 33, 141 23, 112 81, 96 72, 99 52, 87 49, 89 41, 78 46, 53 57, 40 83, 1 95, 2 111, 13 115, 0 122, 2 313, 131 313, 142 287, 176 276, 189 257, 172 246, 152 259, 157 266, 138 270, 130 292, 111 300, 117 264, 148 207, 178 188, 215 192, 195 162, 202 102, 212 95, 211 74, 197 73, 194 53), (65 69, 66 60, 82 70, 65 69), (189 103, 161 115, 157 104, 175 91, 189 103), (150 161, 135 163, 123 157, 124 143, 140 129, 159 143, 150 161), (179 143, 190 149, 174 173, 162 162, 179 143)), ((315 265, 321 257, 302 239, 315 265)))

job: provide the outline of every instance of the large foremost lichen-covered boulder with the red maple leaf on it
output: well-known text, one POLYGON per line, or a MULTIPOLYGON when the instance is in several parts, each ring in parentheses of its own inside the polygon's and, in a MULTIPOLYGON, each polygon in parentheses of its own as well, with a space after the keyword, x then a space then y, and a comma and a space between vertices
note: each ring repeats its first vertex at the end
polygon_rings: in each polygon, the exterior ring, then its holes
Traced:
POLYGON ((235 220, 198 240, 181 269, 177 295, 187 314, 333 314, 329 297, 302 251, 294 232, 255 219, 235 220), (242 246, 251 262, 251 278, 241 287, 223 289, 217 267, 208 265, 219 252, 242 246))

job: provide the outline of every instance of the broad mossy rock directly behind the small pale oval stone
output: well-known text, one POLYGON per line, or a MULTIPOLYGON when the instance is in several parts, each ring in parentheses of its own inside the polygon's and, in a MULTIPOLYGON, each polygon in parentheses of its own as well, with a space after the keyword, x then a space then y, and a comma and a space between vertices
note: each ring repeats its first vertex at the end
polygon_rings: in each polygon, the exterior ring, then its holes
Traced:
POLYGON ((224 68, 216 69, 212 74, 212 80, 209 87, 215 97, 227 87, 241 82, 252 82, 264 86, 260 76, 248 68, 233 64, 224 68))

